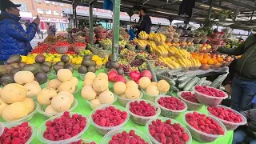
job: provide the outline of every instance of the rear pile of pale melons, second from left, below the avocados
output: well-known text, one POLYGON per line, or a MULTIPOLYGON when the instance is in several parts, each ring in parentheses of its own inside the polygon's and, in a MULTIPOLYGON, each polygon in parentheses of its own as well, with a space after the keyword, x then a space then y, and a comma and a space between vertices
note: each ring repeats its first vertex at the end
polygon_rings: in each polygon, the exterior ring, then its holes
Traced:
POLYGON ((57 78, 50 80, 47 88, 54 89, 57 93, 59 91, 67 91, 73 94, 78 86, 78 78, 72 76, 69 69, 60 69, 57 73, 57 78))

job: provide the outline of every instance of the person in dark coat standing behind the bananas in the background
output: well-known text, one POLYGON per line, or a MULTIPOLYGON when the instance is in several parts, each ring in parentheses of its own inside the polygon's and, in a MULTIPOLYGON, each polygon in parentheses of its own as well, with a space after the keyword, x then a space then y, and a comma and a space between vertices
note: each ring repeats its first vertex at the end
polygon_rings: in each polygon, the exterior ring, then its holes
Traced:
POLYGON ((142 8, 141 10, 138 11, 138 14, 139 14, 138 25, 135 26, 138 29, 138 34, 141 31, 145 31, 146 34, 150 34, 152 22, 151 22, 150 16, 146 14, 146 9, 142 8))

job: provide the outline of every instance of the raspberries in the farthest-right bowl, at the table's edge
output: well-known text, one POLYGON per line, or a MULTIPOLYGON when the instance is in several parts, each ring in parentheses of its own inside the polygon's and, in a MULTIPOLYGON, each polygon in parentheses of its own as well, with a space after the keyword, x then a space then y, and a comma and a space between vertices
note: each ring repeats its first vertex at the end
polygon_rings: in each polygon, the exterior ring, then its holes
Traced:
POLYGON ((213 114, 214 116, 221 118, 223 120, 226 120, 228 122, 242 122, 242 116, 240 114, 234 113, 233 110, 226 109, 224 107, 219 106, 211 106, 207 107, 207 110, 210 112, 210 114, 213 114))

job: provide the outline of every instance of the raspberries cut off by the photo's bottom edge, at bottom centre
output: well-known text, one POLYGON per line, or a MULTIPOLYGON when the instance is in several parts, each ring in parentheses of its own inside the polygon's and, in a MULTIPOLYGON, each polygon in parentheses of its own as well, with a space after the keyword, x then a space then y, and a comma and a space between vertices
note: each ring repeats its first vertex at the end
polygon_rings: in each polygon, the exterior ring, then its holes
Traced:
POLYGON ((135 134, 134 130, 130 130, 129 133, 127 133, 126 131, 122 131, 122 133, 114 134, 109 144, 125 143, 125 142, 149 144, 149 142, 145 142, 145 140, 143 140, 140 136, 135 134))

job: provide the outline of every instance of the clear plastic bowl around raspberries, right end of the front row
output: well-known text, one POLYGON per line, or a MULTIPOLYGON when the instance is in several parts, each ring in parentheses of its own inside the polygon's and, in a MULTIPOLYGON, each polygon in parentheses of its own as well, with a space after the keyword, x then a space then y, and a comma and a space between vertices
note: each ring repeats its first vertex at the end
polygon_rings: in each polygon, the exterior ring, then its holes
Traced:
MULTIPOLYGON (((214 142, 217 138, 223 137, 226 134, 226 127, 223 125, 222 122, 218 121, 217 118, 214 118, 213 116, 207 115, 207 117, 212 118, 214 121, 218 122, 219 126, 222 127, 222 130, 224 131, 224 135, 221 134, 206 134, 200 130, 196 130, 193 126, 190 126, 190 124, 188 122, 186 122, 186 114, 189 113, 193 113, 194 111, 187 111, 185 112, 185 114, 183 115, 183 122, 185 122, 186 127, 188 128, 188 130, 190 130, 190 133, 192 135, 192 137, 196 140, 198 140, 199 142, 214 142)), ((198 114, 203 114, 203 113, 199 113, 198 114)))

